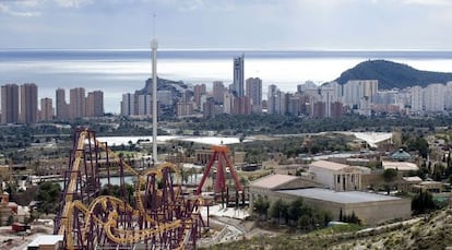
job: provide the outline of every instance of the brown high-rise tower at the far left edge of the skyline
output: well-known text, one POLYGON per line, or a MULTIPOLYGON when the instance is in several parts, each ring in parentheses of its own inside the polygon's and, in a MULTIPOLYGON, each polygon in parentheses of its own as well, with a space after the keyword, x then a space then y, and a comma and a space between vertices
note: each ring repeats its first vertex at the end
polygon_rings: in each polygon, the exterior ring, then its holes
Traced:
POLYGON ((1 86, 1 123, 19 122, 19 86, 7 84, 1 86))

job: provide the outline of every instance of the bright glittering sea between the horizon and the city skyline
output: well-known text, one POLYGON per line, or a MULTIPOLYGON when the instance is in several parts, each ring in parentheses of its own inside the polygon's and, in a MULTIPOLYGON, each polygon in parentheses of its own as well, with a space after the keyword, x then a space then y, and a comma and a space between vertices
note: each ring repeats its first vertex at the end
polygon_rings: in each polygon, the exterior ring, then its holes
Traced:
MULTIPOLYGON (((419 70, 452 72, 452 51, 185 50, 162 49, 157 75, 187 84, 233 82, 233 59, 243 55, 245 78, 260 78, 263 98, 270 84, 296 92, 306 81, 333 81, 366 60, 384 59, 419 70)), ((38 97, 55 100, 58 87, 103 91, 105 111, 120 112, 122 94, 144 87, 152 76, 150 49, 0 49, 0 85, 35 83, 38 97)), ((53 104, 55 105, 55 104, 53 104)))

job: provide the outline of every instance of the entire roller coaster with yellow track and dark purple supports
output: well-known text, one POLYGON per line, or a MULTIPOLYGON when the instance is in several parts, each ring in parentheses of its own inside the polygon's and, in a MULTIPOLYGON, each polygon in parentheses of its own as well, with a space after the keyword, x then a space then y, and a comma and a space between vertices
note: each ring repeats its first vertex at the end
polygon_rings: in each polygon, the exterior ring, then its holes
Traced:
POLYGON ((53 234, 63 235, 63 249, 197 247, 203 225, 202 200, 182 193, 173 164, 139 172, 106 142, 97 141, 93 131, 76 129, 63 183, 53 228, 53 234), (109 190, 103 190, 100 177, 110 184, 110 175, 119 176, 119 198, 104 195, 109 190), (124 176, 134 177, 133 199, 128 199, 124 176))

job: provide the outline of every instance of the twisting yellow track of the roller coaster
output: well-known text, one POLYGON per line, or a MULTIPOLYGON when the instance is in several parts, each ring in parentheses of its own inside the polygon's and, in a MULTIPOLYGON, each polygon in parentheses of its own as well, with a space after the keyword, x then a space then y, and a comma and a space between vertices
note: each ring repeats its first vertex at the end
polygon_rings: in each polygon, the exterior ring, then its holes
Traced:
MULTIPOLYGON (((66 240, 67 240, 67 248, 68 249, 73 249, 73 233, 72 233, 72 217, 74 216, 73 211, 76 207, 79 211, 81 211, 84 214, 84 228, 82 229, 82 240, 83 242, 85 242, 86 239, 86 234, 88 230, 88 225, 92 223, 97 224, 98 226, 102 226, 106 233, 106 236, 108 237, 109 240, 111 240, 115 243, 118 245, 123 245, 123 243, 136 243, 140 241, 143 241, 145 239, 148 239, 152 236, 158 235, 158 234, 163 234, 165 231, 168 230, 173 230, 176 228, 180 228, 181 226, 185 225, 183 228, 183 240, 179 243, 179 247, 177 249, 185 249, 185 246, 188 243, 188 240, 190 238, 190 234, 191 234, 191 225, 193 223, 193 219, 198 219, 199 217, 199 205, 202 204, 202 200, 200 198, 195 199, 195 211, 192 211, 195 215, 192 214, 192 217, 187 219, 185 222, 185 224, 182 225, 182 222, 180 219, 175 219, 173 222, 167 222, 167 223, 157 223, 156 221, 154 221, 150 214, 146 213, 145 209, 144 209, 144 204, 141 198, 141 191, 142 191, 142 187, 144 187, 144 184, 147 181, 147 176, 150 175, 155 175, 155 177, 157 179, 160 179, 163 177, 163 172, 164 170, 170 170, 174 171, 176 174, 178 174, 178 169, 175 165, 169 164, 169 163, 165 163, 159 165, 158 167, 152 168, 146 170, 144 174, 140 175, 133 167, 129 166, 126 162, 122 162, 122 159, 111 150, 109 150, 106 145, 106 143, 99 142, 99 141, 95 141, 96 145, 99 148, 103 148, 105 152, 108 153, 109 156, 111 156, 114 159, 120 160, 120 163, 122 164, 122 166, 133 176, 135 176, 138 178, 136 181, 136 186, 135 186, 135 202, 138 205, 138 210, 134 210, 132 206, 130 206, 129 204, 126 204, 124 201, 115 198, 115 197, 110 197, 110 195, 102 195, 102 197, 97 197, 96 199, 94 199, 91 204, 88 206, 86 206, 85 204, 83 204, 81 201, 79 200, 74 200, 73 198, 73 193, 76 191, 76 179, 78 179, 78 171, 80 170, 80 165, 81 165, 81 159, 82 159, 82 154, 83 154, 83 150, 84 150, 84 144, 85 144, 85 140, 87 136, 90 136, 90 131, 88 130, 83 130, 80 132, 80 136, 76 143, 76 150, 74 152, 74 159, 73 159, 73 165, 72 165, 72 169, 71 169, 71 174, 70 174, 70 178, 69 178, 69 183, 67 187, 67 193, 66 193, 66 200, 64 200, 64 205, 62 209, 62 214, 61 214, 61 224, 60 224, 60 228, 58 230, 59 235, 64 235, 66 236, 66 240), (108 211, 108 219, 106 222, 104 222, 102 218, 97 217, 97 215, 95 215, 94 213, 94 209, 98 205, 100 205, 103 207, 104 211, 107 211, 107 203, 109 203, 110 205, 114 204, 112 210, 108 211), (145 218, 145 221, 153 225, 151 228, 145 228, 145 229, 121 229, 117 227, 117 219, 118 219, 118 211, 120 212, 129 212, 130 214, 132 214, 133 216, 142 216, 143 218, 145 218), (115 230, 115 234, 112 233, 112 230, 115 230)), ((157 193, 157 195, 162 195, 160 193, 157 193)), ((175 197, 178 198, 178 195, 180 195, 180 190, 177 190, 175 192, 175 197)), ((171 207, 170 210, 173 210, 174 207, 171 207)), ((194 207, 193 207, 194 209, 194 207)), ((171 211, 160 211, 159 213, 170 213, 171 211)))

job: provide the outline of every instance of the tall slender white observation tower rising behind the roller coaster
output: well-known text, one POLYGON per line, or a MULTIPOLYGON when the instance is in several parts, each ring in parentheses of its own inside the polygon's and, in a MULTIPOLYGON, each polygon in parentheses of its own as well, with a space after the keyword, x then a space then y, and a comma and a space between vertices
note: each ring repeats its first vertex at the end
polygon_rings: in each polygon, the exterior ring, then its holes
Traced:
POLYGON ((152 160, 157 163, 157 39, 152 39, 152 160))

